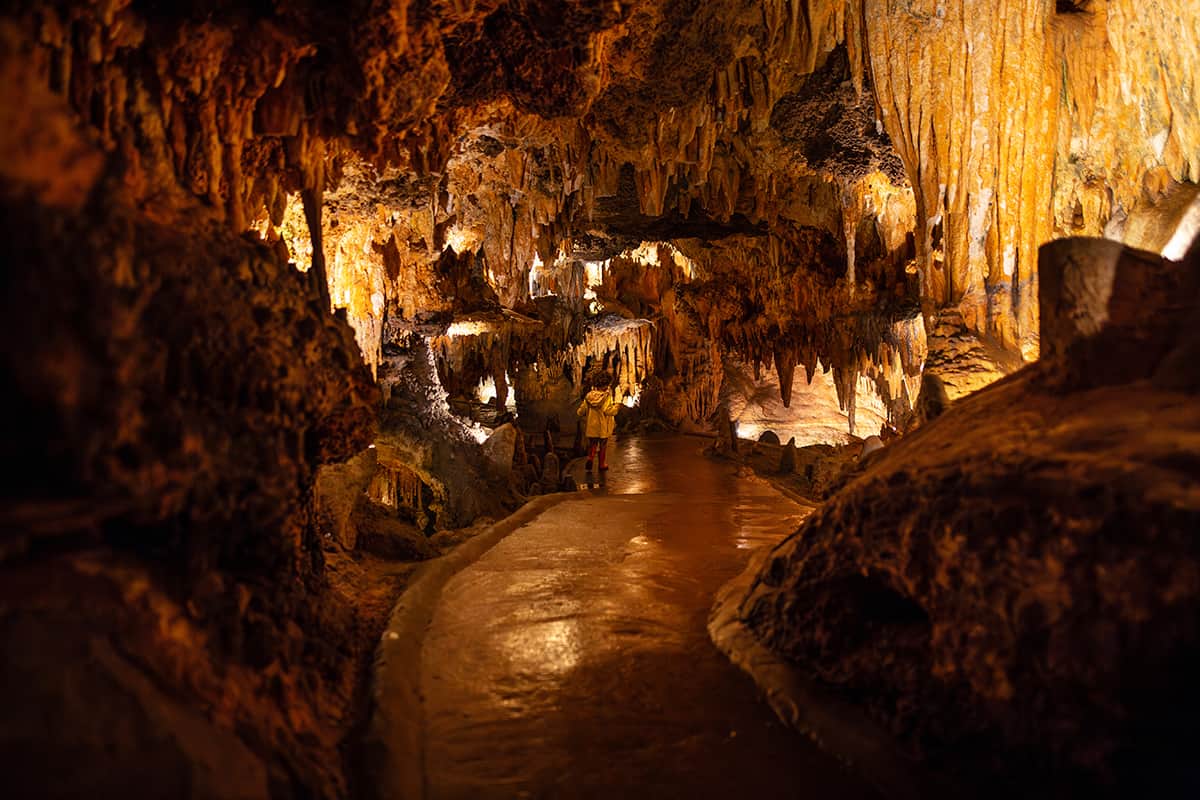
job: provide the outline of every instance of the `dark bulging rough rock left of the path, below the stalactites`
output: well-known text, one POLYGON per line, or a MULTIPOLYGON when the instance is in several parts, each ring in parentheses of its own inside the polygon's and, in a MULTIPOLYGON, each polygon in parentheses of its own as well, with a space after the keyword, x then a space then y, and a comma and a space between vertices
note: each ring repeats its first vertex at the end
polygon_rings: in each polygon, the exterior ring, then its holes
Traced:
POLYGON ((10 771, 76 765, 42 787, 59 796, 146 775, 155 748, 151 793, 344 790, 361 633, 328 593, 312 487, 370 441, 377 391, 305 276, 197 216, 148 221, 113 181, 79 211, 4 198, 16 261, 38 267, 6 271, 2 301, 22 331, 0 356, 22 464, 2 636, 24 655, 0 736, 10 771))

